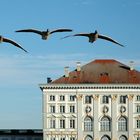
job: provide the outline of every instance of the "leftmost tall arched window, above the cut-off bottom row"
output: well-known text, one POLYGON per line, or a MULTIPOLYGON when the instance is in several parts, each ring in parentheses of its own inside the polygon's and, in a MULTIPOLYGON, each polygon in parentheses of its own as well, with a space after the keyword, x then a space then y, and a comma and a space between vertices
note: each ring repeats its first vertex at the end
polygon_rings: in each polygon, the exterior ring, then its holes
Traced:
POLYGON ((93 130, 93 119, 87 116, 84 119, 84 130, 85 131, 92 131, 93 130))

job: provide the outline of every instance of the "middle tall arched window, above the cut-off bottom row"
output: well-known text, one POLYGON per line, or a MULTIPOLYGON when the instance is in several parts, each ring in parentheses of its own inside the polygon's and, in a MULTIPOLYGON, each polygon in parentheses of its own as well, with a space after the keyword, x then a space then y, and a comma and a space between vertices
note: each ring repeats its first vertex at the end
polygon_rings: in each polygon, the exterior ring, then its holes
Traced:
POLYGON ((101 131, 110 131, 111 130, 111 120, 109 117, 104 116, 100 122, 101 131))

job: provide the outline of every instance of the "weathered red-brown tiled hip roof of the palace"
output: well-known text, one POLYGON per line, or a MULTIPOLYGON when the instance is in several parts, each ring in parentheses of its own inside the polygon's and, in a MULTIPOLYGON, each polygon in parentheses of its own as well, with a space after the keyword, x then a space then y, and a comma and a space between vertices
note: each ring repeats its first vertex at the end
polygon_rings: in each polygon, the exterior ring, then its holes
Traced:
POLYGON ((74 70, 69 77, 62 76, 51 82, 59 84, 73 83, 136 83, 140 84, 140 72, 130 70, 129 66, 116 60, 94 60, 74 70))

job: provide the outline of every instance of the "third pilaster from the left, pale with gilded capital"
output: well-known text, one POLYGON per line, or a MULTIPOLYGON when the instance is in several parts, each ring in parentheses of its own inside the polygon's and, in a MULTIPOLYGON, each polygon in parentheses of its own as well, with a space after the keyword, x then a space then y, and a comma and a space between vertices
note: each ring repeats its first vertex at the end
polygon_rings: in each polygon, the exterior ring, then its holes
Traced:
POLYGON ((117 95, 111 95, 112 140, 117 140, 117 95))

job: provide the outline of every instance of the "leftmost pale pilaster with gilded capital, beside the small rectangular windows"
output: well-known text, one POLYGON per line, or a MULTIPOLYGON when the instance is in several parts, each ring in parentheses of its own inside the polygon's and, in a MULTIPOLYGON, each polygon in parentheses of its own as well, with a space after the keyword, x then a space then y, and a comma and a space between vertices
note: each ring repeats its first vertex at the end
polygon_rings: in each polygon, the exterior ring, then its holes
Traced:
POLYGON ((82 95, 77 95, 77 140, 83 140, 83 131, 82 131, 82 95))

